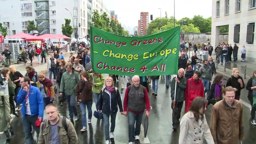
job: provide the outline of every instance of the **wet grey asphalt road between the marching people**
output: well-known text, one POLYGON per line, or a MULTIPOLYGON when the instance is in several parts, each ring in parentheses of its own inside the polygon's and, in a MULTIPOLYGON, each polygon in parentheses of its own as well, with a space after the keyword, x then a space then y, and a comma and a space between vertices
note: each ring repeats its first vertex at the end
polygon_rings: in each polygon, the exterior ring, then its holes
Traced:
MULTIPOLYGON (((226 82, 226 81, 225 81, 226 82)), ((120 81, 118 82, 118 88, 120 87, 120 81)), ((158 96, 155 98, 152 96, 152 89, 150 89, 149 98, 150 105, 152 106, 152 110, 150 111, 149 118, 149 128, 147 136, 151 144, 178 144, 179 138, 179 128, 177 132, 172 131, 172 110, 171 110, 171 97, 170 90, 165 88, 165 84, 158 85, 158 96)), ((125 91, 125 90, 124 90, 125 91)), ((241 99, 243 101, 247 100, 247 90, 244 88, 241 91, 241 99)), ((58 95, 56 95, 57 97, 58 95)), ((121 94, 122 99, 124 98, 124 93, 121 94)), ((243 140, 243 144, 255 144, 256 137, 254 136, 256 131, 256 126, 253 126, 250 123, 250 108, 244 106, 244 126, 245 126, 245 139, 243 140)), ((184 108, 182 108, 182 114, 184 115, 184 108)), ((92 118, 91 125, 87 124, 87 132, 80 132, 82 128, 81 121, 81 110, 78 108, 79 120, 74 123, 75 129, 77 131, 79 144, 104 144, 105 136, 104 136, 104 123, 103 120, 97 120, 96 118, 92 118)), ((211 116, 212 105, 208 106, 208 109, 205 112, 206 119, 208 125, 210 124, 210 116, 211 116)), ((95 104, 93 104, 92 110, 96 110, 95 104)), ((59 113, 63 116, 68 116, 68 108, 66 102, 62 107, 59 107, 59 113)), ((19 118, 14 118, 11 126, 14 128, 15 135, 12 138, 12 143, 14 144, 24 144, 25 135, 22 128, 22 116, 19 113, 19 118)), ((87 115, 88 116, 88 115, 87 115)), ((145 116, 144 116, 145 117, 145 116)), ((143 120, 144 120, 143 117, 143 120)), ((128 121, 127 117, 120 115, 120 113, 116 116, 116 127, 115 127, 115 139, 112 140, 112 144, 127 144, 128 143, 128 121)), ((5 143, 5 135, 0 135, 0 144, 5 143)), ((136 141, 135 144, 140 144, 140 141, 136 141)), ((238 142, 238 144, 241 144, 238 142)))

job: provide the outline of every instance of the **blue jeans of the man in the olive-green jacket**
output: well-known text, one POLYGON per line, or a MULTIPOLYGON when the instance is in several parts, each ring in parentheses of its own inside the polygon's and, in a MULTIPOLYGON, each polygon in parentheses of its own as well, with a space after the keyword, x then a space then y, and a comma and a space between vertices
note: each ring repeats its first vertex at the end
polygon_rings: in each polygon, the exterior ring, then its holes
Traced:
POLYGON ((68 112, 69 112, 69 118, 73 119, 74 115, 77 115, 77 108, 75 107, 75 102, 77 101, 75 94, 68 95, 65 94, 67 102, 68 102, 68 112))

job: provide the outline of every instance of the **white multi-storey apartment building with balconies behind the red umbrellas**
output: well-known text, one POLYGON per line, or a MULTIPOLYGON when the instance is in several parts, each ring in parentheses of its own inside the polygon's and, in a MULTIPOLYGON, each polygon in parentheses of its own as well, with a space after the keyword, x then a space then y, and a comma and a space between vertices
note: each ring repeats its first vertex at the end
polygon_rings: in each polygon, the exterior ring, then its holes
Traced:
MULTIPOLYGON (((74 33, 78 29, 79 38, 85 38, 90 34, 90 0, 16 0, 15 3, 12 3, 12 0, 5 0, 0 4, 3 6, 0 9, 0 22, 7 27, 8 35, 29 33, 26 29, 28 21, 35 22, 40 34, 62 34, 65 18, 71 19, 74 33)), ((74 33, 71 37, 74 37, 74 33)))

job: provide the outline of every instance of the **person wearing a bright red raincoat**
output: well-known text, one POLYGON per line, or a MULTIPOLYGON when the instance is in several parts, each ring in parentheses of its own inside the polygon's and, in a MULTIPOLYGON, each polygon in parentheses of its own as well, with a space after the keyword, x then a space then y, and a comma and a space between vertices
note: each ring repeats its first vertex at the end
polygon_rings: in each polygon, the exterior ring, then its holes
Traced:
POLYGON ((196 97, 204 97, 204 87, 200 79, 201 73, 196 71, 192 78, 187 81, 187 88, 185 90, 185 112, 187 113, 192 101, 196 97))

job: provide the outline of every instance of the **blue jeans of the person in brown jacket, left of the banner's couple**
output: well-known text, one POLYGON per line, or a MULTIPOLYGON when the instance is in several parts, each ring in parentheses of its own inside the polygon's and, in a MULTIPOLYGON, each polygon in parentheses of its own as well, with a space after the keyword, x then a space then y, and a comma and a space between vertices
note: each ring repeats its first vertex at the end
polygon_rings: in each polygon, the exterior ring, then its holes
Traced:
POLYGON ((87 128, 87 119, 86 119, 86 106, 87 106, 87 110, 88 110, 88 119, 91 119, 91 117, 93 116, 93 112, 91 111, 91 107, 93 106, 93 101, 87 101, 87 102, 79 102, 79 106, 80 109, 82 111, 82 125, 83 127, 87 128))

